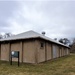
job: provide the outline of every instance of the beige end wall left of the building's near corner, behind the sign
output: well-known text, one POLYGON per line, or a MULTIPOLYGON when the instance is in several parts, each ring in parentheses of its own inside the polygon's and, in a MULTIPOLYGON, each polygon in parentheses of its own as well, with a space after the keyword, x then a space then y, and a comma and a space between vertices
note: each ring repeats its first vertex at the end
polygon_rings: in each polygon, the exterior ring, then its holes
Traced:
MULTIPOLYGON (((35 63, 35 42, 33 41, 18 41, 12 42, 11 45, 9 43, 1 44, 1 60, 9 61, 10 51, 19 51, 20 52, 20 62, 25 63, 35 63), (22 53, 23 51, 23 53, 22 53)), ((17 58, 12 58, 12 61, 18 61, 17 58)))

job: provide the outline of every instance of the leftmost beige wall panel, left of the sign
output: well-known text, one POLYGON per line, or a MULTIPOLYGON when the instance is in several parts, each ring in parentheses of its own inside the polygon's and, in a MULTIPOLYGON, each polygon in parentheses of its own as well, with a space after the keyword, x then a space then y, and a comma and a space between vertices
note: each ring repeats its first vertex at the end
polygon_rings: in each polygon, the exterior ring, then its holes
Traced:
POLYGON ((9 44, 1 44, 1 60, 9 61, 9 44))

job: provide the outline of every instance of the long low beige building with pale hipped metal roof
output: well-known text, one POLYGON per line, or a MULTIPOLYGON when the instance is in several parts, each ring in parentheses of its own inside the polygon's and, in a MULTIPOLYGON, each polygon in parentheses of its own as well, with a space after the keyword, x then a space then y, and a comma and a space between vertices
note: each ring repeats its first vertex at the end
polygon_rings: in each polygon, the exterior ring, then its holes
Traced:
MULTIPOLYGON (((20 52, 21 63, 40 63, 68 55, 69 47, 28 31, 0 40, 0 60, 10 61, 11 51, 20 52)), ((17 58, 13 58, 13 61, 17 61, 17 58)))

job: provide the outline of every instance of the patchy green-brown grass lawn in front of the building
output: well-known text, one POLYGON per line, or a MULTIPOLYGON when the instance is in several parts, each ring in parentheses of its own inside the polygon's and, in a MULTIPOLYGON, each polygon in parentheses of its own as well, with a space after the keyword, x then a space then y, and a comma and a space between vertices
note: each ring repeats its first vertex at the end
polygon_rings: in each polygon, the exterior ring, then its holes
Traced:
POLYGON ((0 61, 0 75, 75 75, 75 54, 37 65, 0 61))

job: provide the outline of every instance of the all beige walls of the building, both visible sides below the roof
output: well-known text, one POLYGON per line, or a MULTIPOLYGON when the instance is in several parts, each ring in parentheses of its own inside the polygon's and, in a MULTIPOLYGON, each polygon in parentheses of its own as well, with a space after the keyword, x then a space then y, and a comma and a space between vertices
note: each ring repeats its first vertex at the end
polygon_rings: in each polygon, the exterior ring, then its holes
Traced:
MULTIPOLYGON (((24 63, 40 63, 53 58, 58 58, 69 54, 69 49, 57 44, 51 44, 44 40, 24 40, 1 44, 1 60, 9 61, 10 51, 20 52, 20 62, 24 63), (44 47, 41 47, 41 43, 44 47), (51 50, 52 49, 52 50, 51 50), (53 57, 53 49, 55 49, 55 57, 53 57)), ((18 61, 13 58, 13 61, 18 61)))

